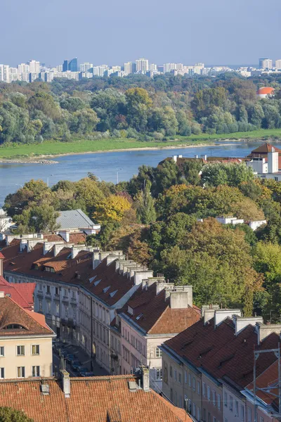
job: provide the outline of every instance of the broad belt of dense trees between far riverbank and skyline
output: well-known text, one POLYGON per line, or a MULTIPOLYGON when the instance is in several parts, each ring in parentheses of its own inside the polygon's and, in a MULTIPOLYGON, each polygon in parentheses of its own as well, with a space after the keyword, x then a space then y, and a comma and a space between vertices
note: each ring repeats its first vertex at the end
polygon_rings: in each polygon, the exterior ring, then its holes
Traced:
POLYGON ((173 139, 281 127, 280 77, 145 75, 0 84, 0 143, 173 139), (275 98, 258 100, 263 84, 275 98))

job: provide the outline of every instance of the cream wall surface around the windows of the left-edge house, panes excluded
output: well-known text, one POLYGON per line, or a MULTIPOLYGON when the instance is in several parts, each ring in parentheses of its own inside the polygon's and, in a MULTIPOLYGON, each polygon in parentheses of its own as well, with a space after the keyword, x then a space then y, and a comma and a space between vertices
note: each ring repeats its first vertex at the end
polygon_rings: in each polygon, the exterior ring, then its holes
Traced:
POLYGON ((18 378, 18 366, 25 366, 25 378, 32 376, 32 366, 40 366, 40 376, 53 375, 52 338, 0 338, 4 346, 4 357, 0 357, 0 367, 4 368, 5 378, 18 378), (39 355, 32 355, 32 345, 39 345, 39 355), (17 346, 25 346, 25 356, 17 356, 17 346))

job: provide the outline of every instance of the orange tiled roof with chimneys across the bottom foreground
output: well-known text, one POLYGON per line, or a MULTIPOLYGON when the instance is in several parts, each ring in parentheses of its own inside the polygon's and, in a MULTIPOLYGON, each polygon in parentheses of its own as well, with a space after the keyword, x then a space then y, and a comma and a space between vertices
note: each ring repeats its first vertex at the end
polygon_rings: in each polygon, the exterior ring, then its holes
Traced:
POLYGON ((23 411, 34 422, 191 422, 183 409, 150 390, 129 390, 134 376, 70 378, 70 397, 55 378, 0 381, 1 406, 23 411), (49 394, 41 392, 48 384, 49 394))

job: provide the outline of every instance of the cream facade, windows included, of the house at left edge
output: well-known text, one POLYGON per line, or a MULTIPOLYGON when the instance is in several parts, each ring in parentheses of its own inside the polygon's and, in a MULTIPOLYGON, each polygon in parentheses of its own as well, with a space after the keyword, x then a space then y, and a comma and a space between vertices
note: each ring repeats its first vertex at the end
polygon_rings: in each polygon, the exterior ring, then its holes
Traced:
POLYGON ((0 336, 1 378, 52 376, 52 338, 52 335, 0 336))

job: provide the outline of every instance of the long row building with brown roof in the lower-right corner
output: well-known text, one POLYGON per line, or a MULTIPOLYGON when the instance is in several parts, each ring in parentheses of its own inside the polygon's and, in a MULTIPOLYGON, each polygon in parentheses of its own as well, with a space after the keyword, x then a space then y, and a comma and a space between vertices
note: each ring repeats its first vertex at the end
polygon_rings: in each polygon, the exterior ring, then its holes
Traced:
MULTIPOLYGON (((265 325, 261 317, 242 317, 240 309, 204 307, 200 321, 160 347, 164 395, 196 421, 254 422, 254 400, 249 400, 254 347, 277 347, 280 331, 281 325, 265 325)), ((256 376, 276 359, 273 353, 261 354, 256 376)), ((259 422, 275 421, 272 404, 266 411, 264 417, 263 407, 259 422)))

